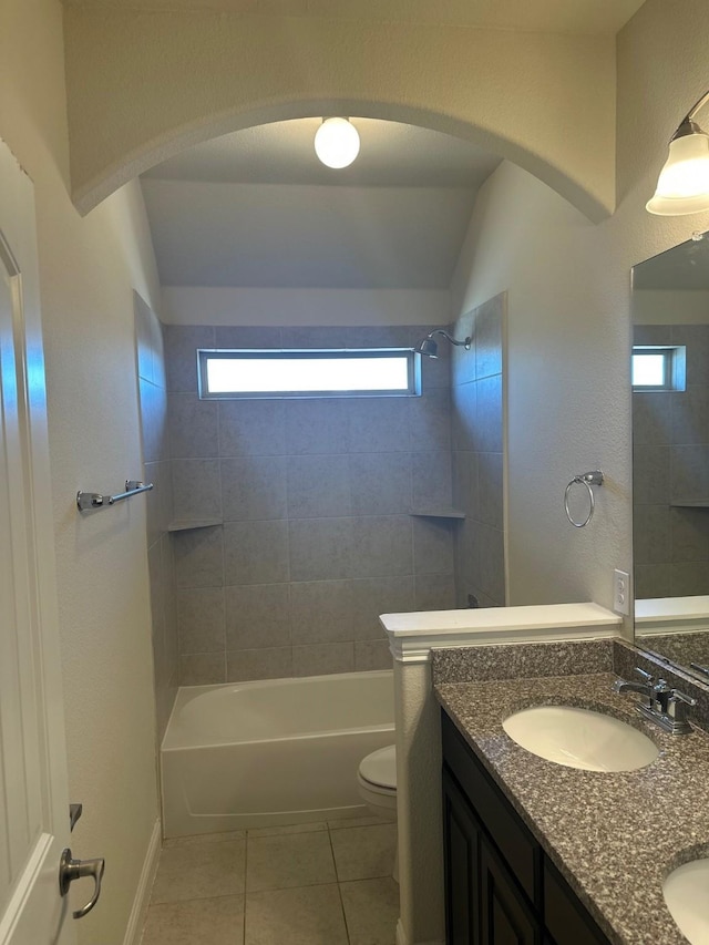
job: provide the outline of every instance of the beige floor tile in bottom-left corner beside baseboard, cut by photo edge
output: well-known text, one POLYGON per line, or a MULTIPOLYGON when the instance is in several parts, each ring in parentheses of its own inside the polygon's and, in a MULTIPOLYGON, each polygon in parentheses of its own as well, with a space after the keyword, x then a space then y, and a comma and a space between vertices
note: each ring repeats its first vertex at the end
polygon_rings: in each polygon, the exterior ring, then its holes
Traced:
POLYGON ((152 905, 141 945, 243 945, 244 896, 152 905))

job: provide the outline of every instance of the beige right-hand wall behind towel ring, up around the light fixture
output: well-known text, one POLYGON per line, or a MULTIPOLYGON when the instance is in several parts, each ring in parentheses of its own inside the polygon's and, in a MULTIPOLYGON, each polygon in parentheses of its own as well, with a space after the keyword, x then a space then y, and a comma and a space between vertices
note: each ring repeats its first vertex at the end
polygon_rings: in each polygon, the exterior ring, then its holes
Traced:
POLYGON ((610 606, 613 568, 630 569, 629 270, 709 227, 709 215, 645 210, 666 141, 707 84, 708 37, 700 2, 669 10, 648 0, 621 32, 621 204, 610 219, 589 224, 510 163, 477 201, 451 290, 454 316, 508 290, 511 604, 610 606), (606 475, 596 515, 574 530, 564 487, 596 468, 606 475))

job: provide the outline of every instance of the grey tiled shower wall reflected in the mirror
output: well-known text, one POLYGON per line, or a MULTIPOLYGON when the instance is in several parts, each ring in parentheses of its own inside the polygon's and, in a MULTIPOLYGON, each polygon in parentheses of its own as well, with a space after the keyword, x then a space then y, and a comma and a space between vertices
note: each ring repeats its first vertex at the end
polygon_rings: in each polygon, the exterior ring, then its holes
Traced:
POLYGON ((635 596, 706 594, 709 509, 709 326, 637 325, 636 345, 686 346, 684 391, 633 393, 635 596))

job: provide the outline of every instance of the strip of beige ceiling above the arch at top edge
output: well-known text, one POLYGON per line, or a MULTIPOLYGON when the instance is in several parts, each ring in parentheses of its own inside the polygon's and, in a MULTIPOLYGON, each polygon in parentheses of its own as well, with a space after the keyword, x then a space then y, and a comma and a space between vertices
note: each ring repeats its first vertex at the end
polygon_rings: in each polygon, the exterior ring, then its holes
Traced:
POLYGON ((490 30, 615 34, 644 0, 63 0, 116 10, 226 10, 238 14, 438 23, 490 30))

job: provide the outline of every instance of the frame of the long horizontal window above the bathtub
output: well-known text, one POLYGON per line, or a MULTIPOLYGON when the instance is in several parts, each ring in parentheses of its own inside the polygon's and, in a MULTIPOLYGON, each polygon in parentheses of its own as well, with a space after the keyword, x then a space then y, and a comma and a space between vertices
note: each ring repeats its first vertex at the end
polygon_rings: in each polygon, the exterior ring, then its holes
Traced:
POLYGON ((322 398, 360 397, 420 397, 421 396, 421 355, 413 348, 198 348, 197 349, 198 392, 202 400, 298 400, 322 398), (219 391, 208 388, 207 362, 209 360, 312 360, 318 358, 341 358, 342 360, 370 360, 401 356, 407 360, 405 390, 310 390, 310 391, 219 391))

